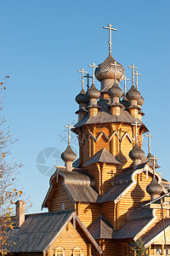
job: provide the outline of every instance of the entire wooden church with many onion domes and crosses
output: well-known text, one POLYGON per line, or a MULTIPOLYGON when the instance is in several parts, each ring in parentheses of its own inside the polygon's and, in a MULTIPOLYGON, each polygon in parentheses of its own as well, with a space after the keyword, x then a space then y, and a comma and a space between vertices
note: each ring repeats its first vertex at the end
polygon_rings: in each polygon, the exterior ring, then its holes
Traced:
MULTIPOLYGON (((104 28, 110 32, 109 56, 91 65, 93 82, 87 91, 86 72, 81 70, 78 121, 69 125, 68 147, 61 154, 65 166, 56 166, 50 178, 42 203, 48 212, 25 218, 18 207, 11 252, 19 256, 133 255, 139 238, 149 255, 170 255, 169 183, 156 172, 159 166, 150 147, 147 156, 142 150, 148 129, 142 120, 139 73, 134 65, 129 67, 132 86, 126 91, 124 67, 111 55, 115 29, 111 24, 104 28), (124 92, 119 87, 122 79, 124 92), (71 131, 78 137, 79 159, 71 149, 71 131)), ((150 133, 146 136, 150 146, 150 133)))

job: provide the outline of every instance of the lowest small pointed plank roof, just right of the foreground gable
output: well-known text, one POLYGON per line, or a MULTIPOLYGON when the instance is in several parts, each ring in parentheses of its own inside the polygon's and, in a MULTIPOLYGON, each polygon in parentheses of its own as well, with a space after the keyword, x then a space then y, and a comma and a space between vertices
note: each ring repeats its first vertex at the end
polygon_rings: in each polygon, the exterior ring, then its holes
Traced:
POLYGON ((102 214, 90 224, 88 231, 94 239, 112 239, 115 238, 116 233, 111 223, 102 214))

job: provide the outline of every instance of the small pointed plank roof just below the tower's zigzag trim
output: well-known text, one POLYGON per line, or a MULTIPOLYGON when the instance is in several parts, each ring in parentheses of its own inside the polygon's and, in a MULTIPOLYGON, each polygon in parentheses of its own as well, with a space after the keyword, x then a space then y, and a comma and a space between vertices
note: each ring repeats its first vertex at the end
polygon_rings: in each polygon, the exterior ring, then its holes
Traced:
POLYGON ((111 154, 105 148, 99 150, 98 153, 94 154, 94 156, 90 160, 88 160, 83 166, 89 166, 94 163, 107 163, 107 164, 113 164, 117 166, 123 166, 122 161, 118 160, 116 156, 111 154))

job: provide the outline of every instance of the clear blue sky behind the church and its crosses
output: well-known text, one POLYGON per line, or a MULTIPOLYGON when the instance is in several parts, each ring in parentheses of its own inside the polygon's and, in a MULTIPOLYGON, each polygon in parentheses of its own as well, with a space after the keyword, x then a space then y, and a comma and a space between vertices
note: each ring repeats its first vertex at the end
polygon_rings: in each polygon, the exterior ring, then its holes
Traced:
MULTIPOLYGON (((159 172, 170 180, 170 0, 1 0, 0 9, 0 78, 10 76, 3 113, 20 139, 12 153, 25 165, 20 187, 31 196, 30 212, 40 211, 48 189, 49 177, 37 170, 37 155, 44 148, 56 148, 57 154, 65 149, 64 125, 77 120, 77 70, 91 73, 88 64, 105 60, 108 32, 102 27, 110 22, 117 28, 112 55, 128 78, 132 63, 142 73, 144 124, 154 136, 159 172)), ((77 149, 75 137, 72 146, 77 149)), ((147 154, 146 138, 144 150, 147 154)))

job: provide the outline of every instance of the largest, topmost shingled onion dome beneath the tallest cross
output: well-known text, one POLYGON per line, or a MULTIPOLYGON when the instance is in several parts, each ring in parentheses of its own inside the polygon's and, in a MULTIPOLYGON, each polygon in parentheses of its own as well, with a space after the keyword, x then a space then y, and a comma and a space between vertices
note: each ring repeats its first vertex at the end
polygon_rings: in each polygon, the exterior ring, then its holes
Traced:
MULTIPOLYGON (((95 69, 95 77, 99 81, 103 79, 115 79, 115 67, 114 65, 111 65, 115 62, 115 59, 110 54, 107 59, 99 64, 99 67, 96 67, 95 69)), ((119 64, 120 66, 116 67, 116 79, 120 82, 125 74, 124 67, 118 62, 116 64, 119 64)))

